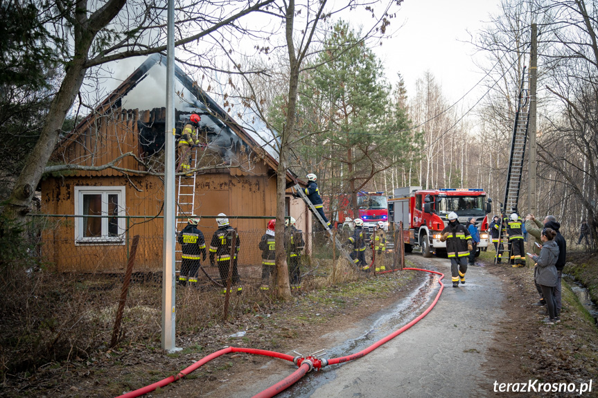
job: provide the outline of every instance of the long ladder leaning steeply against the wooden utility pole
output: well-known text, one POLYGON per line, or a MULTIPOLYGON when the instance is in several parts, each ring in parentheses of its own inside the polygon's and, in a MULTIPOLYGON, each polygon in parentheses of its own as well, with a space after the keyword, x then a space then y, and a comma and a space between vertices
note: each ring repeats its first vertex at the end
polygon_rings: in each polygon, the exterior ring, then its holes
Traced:
MULTIPOLYGON (((515 114, 515 125, 513 127, 513 137, 511 138, 511 156, 509 158, 509 169, 507 170, 507 186, 504 189, 504 201, 502 203, 501 218, 509 217, 511 212, 518 211, 519 190, 521 186, 521 174, 523 172, 523 158, 525 155, 525 143, 527 142, 527 127, 529 125, 529 93, 525 89, 526 80, 525 66, 521 78, 521 89, 519 91, 519 101, 515 114)), ((502 242, 504 236, 502 229, 499 230, 498 242, 502 242)), ((506 242, 508 251, 511 253, 509 242, 506 242)))

